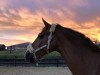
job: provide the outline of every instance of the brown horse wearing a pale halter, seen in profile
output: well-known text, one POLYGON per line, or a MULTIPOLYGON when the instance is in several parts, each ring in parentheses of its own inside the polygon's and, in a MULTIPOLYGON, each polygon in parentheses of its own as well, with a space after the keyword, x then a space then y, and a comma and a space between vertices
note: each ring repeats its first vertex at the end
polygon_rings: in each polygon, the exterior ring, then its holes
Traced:
POLYGON ((44 19, 45 27, 33 43, 27 47, 26 60, 37 62, 53 51, 59 52, 73 75, 100 75, 100 48, 84 34, 50 24, 44 19))

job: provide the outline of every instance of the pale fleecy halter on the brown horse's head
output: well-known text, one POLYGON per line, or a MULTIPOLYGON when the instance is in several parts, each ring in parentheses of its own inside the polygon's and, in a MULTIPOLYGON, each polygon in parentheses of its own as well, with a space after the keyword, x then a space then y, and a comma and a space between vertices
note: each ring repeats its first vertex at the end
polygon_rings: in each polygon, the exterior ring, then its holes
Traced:
MULTIPOLYGON (((48 36, 47 44, 45 44, 45 45, 43 45, 43 46, 41 46, 41 47, 39 47, 37 49, 34 49, 32 47, 31 43, 29 43, 29 45, 27 46, 27 51, 29 51, 30 53, 33 53, 35 61, 37 61, 36 52, 38 52, 38 51, 42 50, 43 48, 47 47, 46 51, 47 51, 47 53, 49 53, 49 48, 50 48, 50 43, 51 43, 51 40, 52 40, 52 35, 55 32, 56 26, 57 26, 56 23, 51 25, 51 28, 49 30, 50 34, 48 36)), ((38 63, 36 63, 36 66, 38 66, 38 63)))

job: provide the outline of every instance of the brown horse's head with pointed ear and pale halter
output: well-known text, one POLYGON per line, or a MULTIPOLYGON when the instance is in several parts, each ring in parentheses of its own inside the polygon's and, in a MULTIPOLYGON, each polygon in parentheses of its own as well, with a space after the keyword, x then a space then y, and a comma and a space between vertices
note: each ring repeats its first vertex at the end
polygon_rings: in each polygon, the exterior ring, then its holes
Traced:
POLYGON ((57 50, 55 34, 58 24, 50 25, 44 19, 42 20, 45 27, 42 29, 41 33, 39 33, 36 40, 27 46, 25 57, 26 60, 30 61, 31 63, 37 62, 37 60, 43 55, 57 50))

